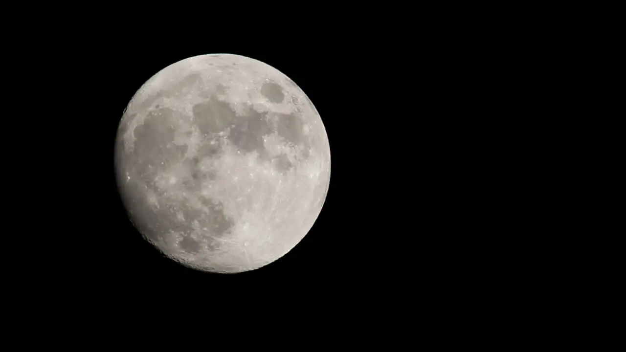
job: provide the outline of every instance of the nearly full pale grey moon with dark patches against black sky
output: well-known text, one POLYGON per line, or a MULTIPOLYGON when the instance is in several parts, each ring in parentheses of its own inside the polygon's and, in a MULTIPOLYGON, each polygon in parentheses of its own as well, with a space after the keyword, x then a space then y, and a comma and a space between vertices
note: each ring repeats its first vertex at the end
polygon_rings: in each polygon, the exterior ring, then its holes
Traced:
POLYGON ((118 128, 115 170, 145 239, 186 266, 242 272, 309 232, 331 153, 316 108, 292 80, 245 56, 210 54, 141 86, 118 128))

